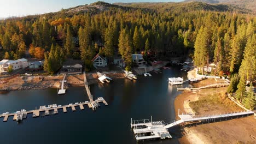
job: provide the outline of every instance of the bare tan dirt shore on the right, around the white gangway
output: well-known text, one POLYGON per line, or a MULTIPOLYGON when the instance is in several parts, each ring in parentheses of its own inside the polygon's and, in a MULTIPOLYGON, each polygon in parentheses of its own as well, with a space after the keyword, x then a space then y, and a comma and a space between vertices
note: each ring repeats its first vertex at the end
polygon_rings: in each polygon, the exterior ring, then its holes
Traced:
MULTIPOLYGON (((203 80, 196 83, 196 86, 206 85, 215 80, 203 80)), ((191 113, 190 101, 197 101, 206 98, 214 98, 215 95, 223 94, 226 88, 203 89, 196 92, 183 92, 174 101, 176 118, 179 113, 191 113)), ((201 103, 196 110, 198 115, 227 113, 230 111, 241 111, 242 109, 232 103, 228 98, 223 98, 224 103, 201 103)), ((203 101, 202 101, 203 102, 203 101)), ((253 116, 231 119, 223 122, 200 124, 192 127, 185 127, 187 133, 179 139, 180 143, 256 143, 256 119, 253 116)))

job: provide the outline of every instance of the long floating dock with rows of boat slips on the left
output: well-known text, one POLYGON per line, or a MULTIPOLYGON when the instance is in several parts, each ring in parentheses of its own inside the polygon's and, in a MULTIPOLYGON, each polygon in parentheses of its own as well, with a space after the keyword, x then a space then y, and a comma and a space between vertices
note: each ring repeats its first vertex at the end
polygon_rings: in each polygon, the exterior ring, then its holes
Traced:
MULTIPOLYGON (((44 109, 37 109, 37 110, 30 110, 30 111, 24 111, 23 113, 23 119, 27 118, 27 114, 28 113, 33 113, 33 118, 34 117, 39 117, 40 116, 40 112, 45 112, 45 116, 49 115, 49 111, 54 111, 53 114, 57 114, 59 109, 62 109, 64 113, 67 112, 67 108, 71 107, 72 111, 76 111, 75 106, 79 106, 80 110, 84 110, 84 105, 88 105, 89 108, 94 108, 92 107, 92 105, 97 104, 97 106, 100 106, 99 103, 103 103, 104 105, 108 105, 108 103, 103 99, 103 98, 98 98, 95 101, 85 101, 85 102, 80 102, 80 103, 75 103, 75 104, 68 104, 68 105, 59 105, 59 106, 55 106, 55 107, 45 107, 44 109)), ((1 117, 4 117, 3 122, 7 122, 8 121, 8 117, 10 116, 14 116, 13 120, 15 121, 17 118, 17 113, 18 112, 14 112, 14 113, 5 113, 0 115, 1 117)))

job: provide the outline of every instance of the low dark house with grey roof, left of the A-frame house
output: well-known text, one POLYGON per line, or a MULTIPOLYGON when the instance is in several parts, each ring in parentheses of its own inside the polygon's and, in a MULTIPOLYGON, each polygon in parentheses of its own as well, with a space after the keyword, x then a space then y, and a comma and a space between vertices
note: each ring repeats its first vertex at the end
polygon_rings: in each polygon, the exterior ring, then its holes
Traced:
POLYGON ((74 59, 67 59, 66 62, 62 64, 60 74, 82 74, 83 62, 74 59))

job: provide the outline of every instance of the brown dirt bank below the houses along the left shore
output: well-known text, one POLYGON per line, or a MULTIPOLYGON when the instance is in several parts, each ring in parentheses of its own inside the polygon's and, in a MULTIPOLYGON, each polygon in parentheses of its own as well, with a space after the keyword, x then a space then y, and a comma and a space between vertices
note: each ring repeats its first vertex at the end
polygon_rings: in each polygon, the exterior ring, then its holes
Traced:
MULTIPOLYGON (((102 73, 111 77, 112 79, 125 79, 123 71, 103 71, 102 73)), ((60 81, 63 80, 63 75, 44 76, 43 80, 40 80, 40 76, 18 76, 14 79, 9 80, 7 83, 0 84, 1 91, 16 91, 16 90, 27 90, 27 89, 45 89, 45 88, 60 88, 60 81)), ((89 85, 97 83, 96 73, 87 73, 86 79, 89 85)), ((67 75, 67 83, 65 87, 83 87, 84 76, 83 74, 67 75)))

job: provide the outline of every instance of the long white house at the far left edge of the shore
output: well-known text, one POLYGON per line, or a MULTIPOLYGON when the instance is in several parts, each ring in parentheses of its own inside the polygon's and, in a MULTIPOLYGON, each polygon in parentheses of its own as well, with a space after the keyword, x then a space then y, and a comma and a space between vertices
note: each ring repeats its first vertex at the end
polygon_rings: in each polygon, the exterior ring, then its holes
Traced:
POLYGON ((13 70, 25 69, 26 67, 28 67, 28 62, 27 62, 27 59, 25 58, 21 58, 15 61, 9 60, 9 59, 3 59, 0 62, 0 73, 8 72, 9 65, 13 67, 13 70))

